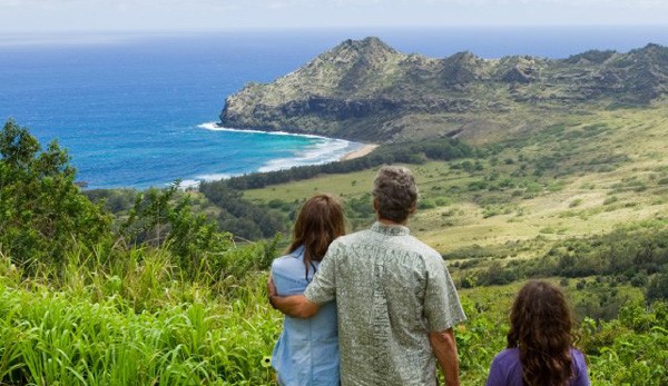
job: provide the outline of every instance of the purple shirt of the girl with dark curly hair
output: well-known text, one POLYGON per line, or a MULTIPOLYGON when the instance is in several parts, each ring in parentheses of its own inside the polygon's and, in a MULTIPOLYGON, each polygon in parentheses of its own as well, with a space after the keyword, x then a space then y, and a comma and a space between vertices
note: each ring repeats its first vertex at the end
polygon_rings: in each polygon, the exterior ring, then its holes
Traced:
MULTIPOLYGON (((576 348, 570 350, 573 359, 573 374, 569 386, 589 386, 589 376, 587 375, 587 363, 584 355, 576 348)), ((487 386, 522 386, 522 364, 520 363, 520 349, 507 348, 499 353, 492 360, 492 368, 488 376, 487 386)))

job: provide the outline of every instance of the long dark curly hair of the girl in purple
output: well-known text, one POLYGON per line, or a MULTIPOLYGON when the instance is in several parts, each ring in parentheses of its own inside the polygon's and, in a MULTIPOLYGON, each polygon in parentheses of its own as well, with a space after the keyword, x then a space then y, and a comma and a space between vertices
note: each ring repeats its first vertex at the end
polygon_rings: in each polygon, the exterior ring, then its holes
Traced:
POLYGON ((570 348, 572 318, 563 293, 531 280, 518 294, 510 314, 508 348, 519 347, 524 385, 563 386, 573 376, 570 348))

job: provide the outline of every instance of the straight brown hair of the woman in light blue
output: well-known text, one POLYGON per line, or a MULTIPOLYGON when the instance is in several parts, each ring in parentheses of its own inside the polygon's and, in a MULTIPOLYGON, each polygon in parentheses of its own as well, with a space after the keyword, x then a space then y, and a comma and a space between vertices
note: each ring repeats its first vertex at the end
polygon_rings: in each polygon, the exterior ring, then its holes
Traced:
POLYGON ((308 278, 312 261, 321 261, 330 244, 343 235, 345 222, 341 204, 330 195, 316 195, 302 206, 287 253, 304 246, 304 265, 308 278))

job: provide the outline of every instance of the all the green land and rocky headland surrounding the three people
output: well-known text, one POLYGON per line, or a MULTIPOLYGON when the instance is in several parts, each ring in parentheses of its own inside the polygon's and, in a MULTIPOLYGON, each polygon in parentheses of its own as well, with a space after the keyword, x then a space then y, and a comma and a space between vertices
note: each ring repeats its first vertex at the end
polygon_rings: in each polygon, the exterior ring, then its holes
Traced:
POLYGON ((304 73, 335 80, 332 96, 357 115, 330 119, 336 103, 302 92, 321 88, 315 81, 293 92, 311 79, 298 70, 232 97, 224 119, 389 142, 355 160, 200 191, 84 192, 57 142, 42 150, 9 121, 0 133, 0 384, 275 385, 268 365, 282 316, 265 280, 286 243, 276 231, 287 232, 316 192, 342 198, 348 230, 369 227, 371 185, 385 162, 415 172, 412 232, 442 254, 460 289, 463 385, 484 383, 504 347, 512 297, 531 277, 569 295, 593 385, 668 384, 665 61, 666 49, 651 44, 488 61, 347 41, 304 73), (364 50, 373 60, 361 59, 364 50), (406 76, 442 86, 399 81, 406 76), (364 86, 374 77, 381 86, 364 86), (355 85, 364 87, 347 93, 355 85), (443 103, 424 110, 442 89, 443 103), (376 98, 409 93, 424 98, 376 98), (500 105, 480 102, 487 95, 500 105), (292 110, 269 103, 302 96, 316 99, 292 110), (281 109, 294 115, 273 115, 281 109))

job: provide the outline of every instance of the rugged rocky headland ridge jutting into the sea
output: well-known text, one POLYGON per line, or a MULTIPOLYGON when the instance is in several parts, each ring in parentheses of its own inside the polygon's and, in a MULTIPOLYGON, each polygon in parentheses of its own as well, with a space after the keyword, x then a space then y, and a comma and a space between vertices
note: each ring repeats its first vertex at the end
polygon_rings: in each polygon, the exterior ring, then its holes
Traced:
POLYGON ((648 106, 667 93, 668 48, 652 43, 567 59, 432 59, 366 38, 346 40, 274 82, 246 85, 226 99, 220 125, 373 142, 485 142, 547 115, 648 106))

